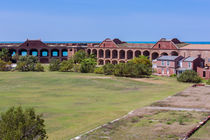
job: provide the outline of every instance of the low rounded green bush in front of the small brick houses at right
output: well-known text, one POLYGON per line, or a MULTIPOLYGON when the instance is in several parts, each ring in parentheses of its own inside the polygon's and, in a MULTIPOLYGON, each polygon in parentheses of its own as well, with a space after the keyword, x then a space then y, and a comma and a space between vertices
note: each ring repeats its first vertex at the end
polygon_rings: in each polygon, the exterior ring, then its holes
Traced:
POLYGON ((187 83, 200 83, 201 82, 201 78, 193 70, 187 70, 183 72, 181 75, 177 77, 177 80, 180 82, 187 82, 187 83))

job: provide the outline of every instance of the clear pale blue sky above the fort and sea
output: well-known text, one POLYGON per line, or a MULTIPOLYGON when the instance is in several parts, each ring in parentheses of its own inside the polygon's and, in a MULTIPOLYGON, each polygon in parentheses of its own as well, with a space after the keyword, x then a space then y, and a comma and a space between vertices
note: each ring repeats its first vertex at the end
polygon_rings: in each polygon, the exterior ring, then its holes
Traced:
POLYGON ((0 0, 0 41, 210 41, 210 0, 0 0))

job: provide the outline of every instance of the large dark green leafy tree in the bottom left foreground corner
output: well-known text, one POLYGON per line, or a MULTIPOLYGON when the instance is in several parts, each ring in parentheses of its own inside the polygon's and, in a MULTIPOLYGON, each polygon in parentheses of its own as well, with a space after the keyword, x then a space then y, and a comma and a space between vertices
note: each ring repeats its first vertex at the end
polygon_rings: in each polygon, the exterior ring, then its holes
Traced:
POLYGON ((33 108, 12 107, 0 118, 0 140, 47 139, 42 115, 36 115, 33 108))

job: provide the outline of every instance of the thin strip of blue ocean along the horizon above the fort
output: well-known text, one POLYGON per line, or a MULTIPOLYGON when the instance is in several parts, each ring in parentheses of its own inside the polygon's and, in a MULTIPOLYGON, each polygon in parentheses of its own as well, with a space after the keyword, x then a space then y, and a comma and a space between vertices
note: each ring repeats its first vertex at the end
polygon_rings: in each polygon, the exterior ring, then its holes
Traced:
MULTIPOLYGON (((24 43, 25 41, 0 41, 0 43, 24 43)), ((102 41, 43 41, 44 43, 101 43, 102 41)), ((127 43, 151 43, 157 41, 126 41, 127 43)), ((189 44, 210 44, 210 41, 183 41, 189 44)))

